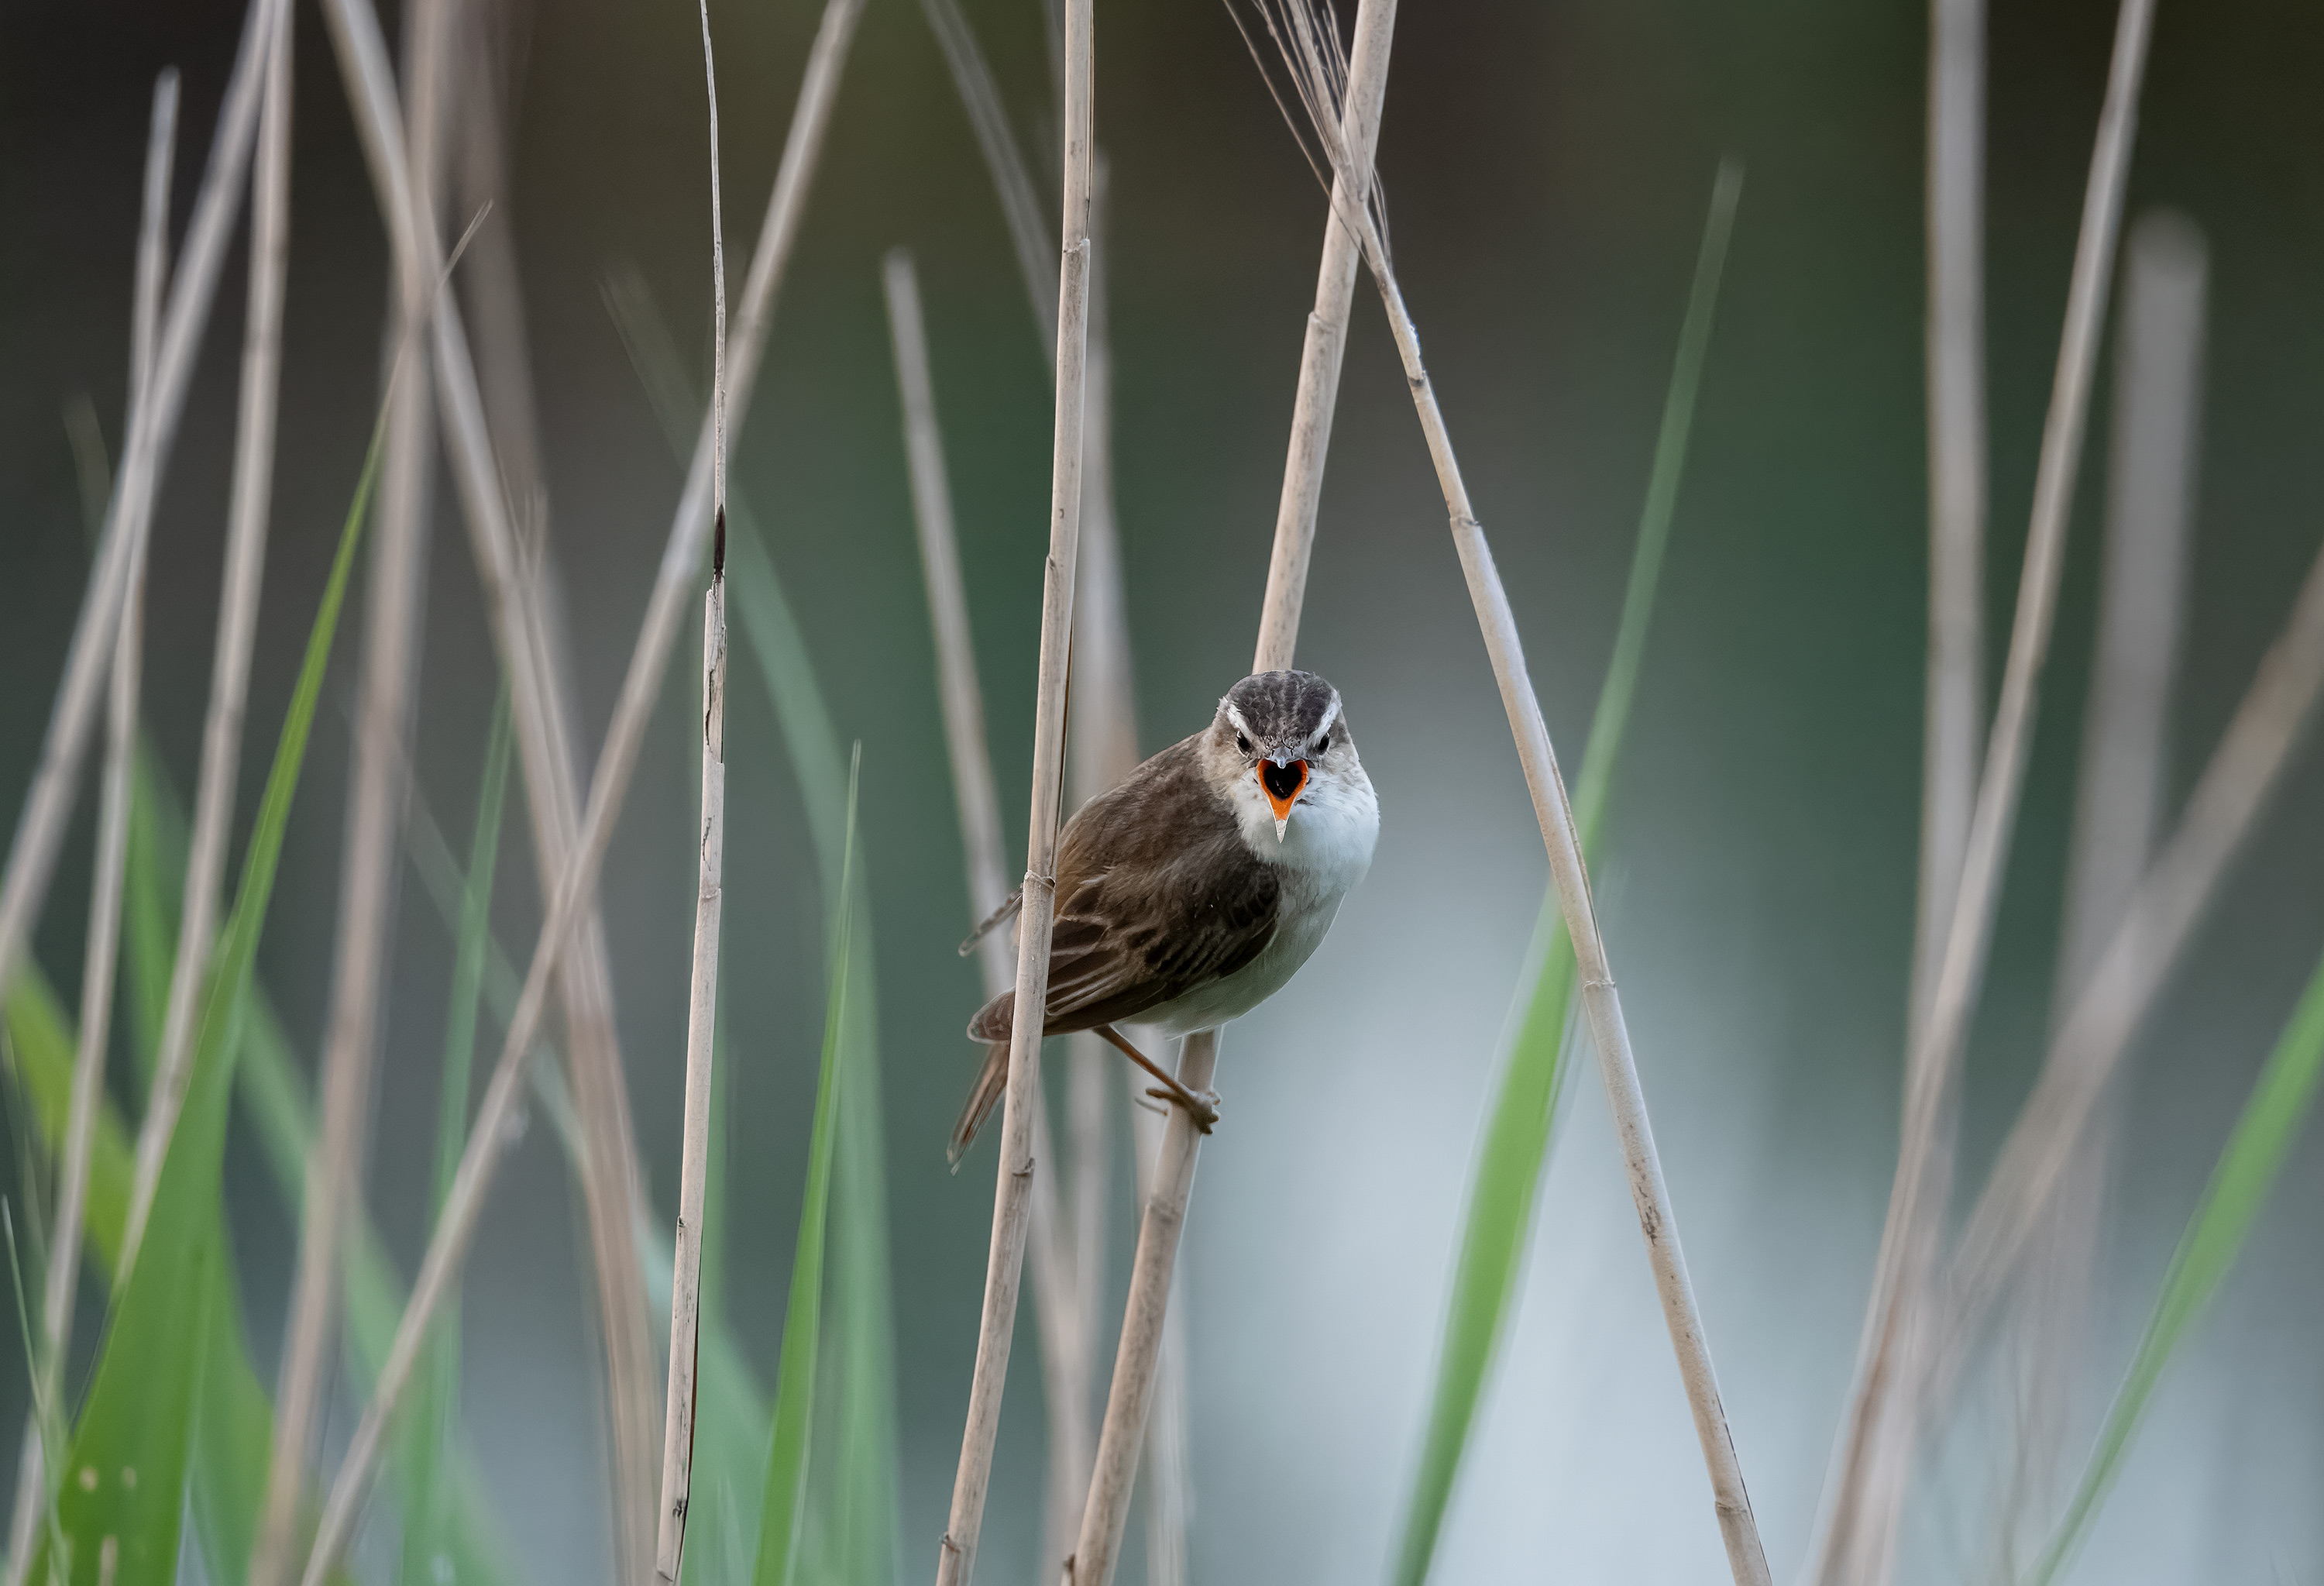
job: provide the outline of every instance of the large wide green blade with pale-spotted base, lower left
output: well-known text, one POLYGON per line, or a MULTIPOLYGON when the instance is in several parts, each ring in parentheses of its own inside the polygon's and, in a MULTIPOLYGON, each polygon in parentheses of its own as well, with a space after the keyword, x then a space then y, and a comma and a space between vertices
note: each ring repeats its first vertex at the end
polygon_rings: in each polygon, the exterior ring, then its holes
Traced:
MULTIPOLYGON (((235 907, 218 933, 186 1105, 163 1156, 153 1212, 128 1284, 116 1298, 88 1402, 72 1433, 56 1516, 72 1553, 70 1579, 77 1584, 93 1584, 100 1574, 114 1586, 167 1586, 177 1579, 179 1519, 202 1365, 214 1333, 207 1326, 214 1316, 211 1305, 198 1302, 188 1326, 188 1295, 211 1295, 223 1281, 225 1230, 218 1181, 235 1056, 242 1046, 242 1009, 274 895, 274 872, 307 758, 316 698, 323 693, 323 670, 346 600, 356 542, 370 516, 379 435, 374 428, 258 802, 235 907)), ((67 1563, 44 1560, 46 1553, 44 1542, 33 1560, 33 1579, 67 1563)))

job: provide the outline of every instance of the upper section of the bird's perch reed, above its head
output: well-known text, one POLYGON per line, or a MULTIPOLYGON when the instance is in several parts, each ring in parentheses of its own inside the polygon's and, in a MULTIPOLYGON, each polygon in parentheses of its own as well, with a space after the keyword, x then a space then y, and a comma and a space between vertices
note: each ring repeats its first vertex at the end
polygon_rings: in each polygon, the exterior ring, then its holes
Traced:
POLYGON ((1387 53, 1394 33, 1397 0, 1357 2, 1348 98, 1339 123, 1353 165, 1332 174, 1332 212, 1325 219, 1322 263, 1315 267, 1315 307, 1308 312, 1306 342, 1299 349, 1292 444, 1283 460, 1283 498, 1276 502, 1276 546, 1267 558, 1267 605, 1260 609, 1253 672, 1290 667, 1299 644, 1299 609, 1306 602, 1308 560, 1315 553, 1315 507, 1322 502, 1322 465, 1332 449, 1332 414, 1339 407, 1339 363, 1348 349, 1348 314, 1355 307, 1355 274, 1362 267, 1362 244, 1341 216, 1367 212, 1371 205, 1371 156, 1380 144, 1380 107, 1387 100, 1387 53))

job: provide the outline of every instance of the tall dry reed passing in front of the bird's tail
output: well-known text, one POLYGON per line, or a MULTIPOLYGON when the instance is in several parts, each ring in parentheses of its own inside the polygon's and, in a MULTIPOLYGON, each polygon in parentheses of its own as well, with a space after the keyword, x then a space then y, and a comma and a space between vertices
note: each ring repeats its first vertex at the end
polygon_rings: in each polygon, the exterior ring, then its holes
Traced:
POLYGON ((1041 579, 1041 670, 1034 695, 1032 816, 1025 826, 1025 907, 1018 914, 1016 1007, 1009 1040, 1009 1088, 1002 1100, 1002 1149, 992 1193, 992 1249, 985 1305, 976 1333, 976 1374, 953 1479, 953 1509, 937 1549, 939 1586, 964 1586, 976 1563, 992 1439, 999 1430, 1009 1344, 1016 1333, 1030 1188, 1034 1116, 1041 1091, 1041 1026, 1048 1007, 1048 942, 1057 891, 1057 805, 1064 772, 1064 672, 1074 628, 1074 563, 1081 544, 1083 379, 1090 312, 1092 177, 1090 0, 1064 7, 1064 214, 1057 270, 1057 381, 1050 446, 1050 537, 1041 579))

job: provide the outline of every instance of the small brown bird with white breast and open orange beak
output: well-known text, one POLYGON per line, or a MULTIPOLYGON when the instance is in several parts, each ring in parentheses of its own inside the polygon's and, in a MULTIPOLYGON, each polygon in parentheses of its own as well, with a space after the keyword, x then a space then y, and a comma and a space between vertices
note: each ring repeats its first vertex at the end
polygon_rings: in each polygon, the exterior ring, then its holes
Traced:
MULTIPOLYGON (((1178 1086, 1113 1026, 1190 1035, 1278 993, 1364 879, 1378 837, 1380 802, 1339 688, 1313 672, 1246 677, 1211 726, 1064 823, 1043 1035, 1097 1030, 1208 1133, 1215 1098, 1178 1086)), ((960 951, 1020 907, 1023 891, 960 951)), ((969 1021, 990 1051, 953 1126, 955 1167, 1009 1084, 1013 1014, 1004 991, 969 1021)))

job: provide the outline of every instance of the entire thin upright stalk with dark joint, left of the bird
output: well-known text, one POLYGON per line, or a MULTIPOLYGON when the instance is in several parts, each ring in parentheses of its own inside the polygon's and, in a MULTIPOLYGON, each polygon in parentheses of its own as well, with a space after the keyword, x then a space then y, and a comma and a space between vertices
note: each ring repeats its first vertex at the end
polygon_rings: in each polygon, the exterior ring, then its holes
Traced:
POLYGON ((702 595, 702 826, 697 830, 695 970, 686 1000, 686 1144, 669 1272, 669 1393, 662 1407, 662 1502, 653 1574, 676 1586, 693 1505, 695 1370, 702 1339, 702 1202, 711 1160, 711 1063, 718 1035, 718 923, 725 905, 725 226, 718 214, 718 67, 702 0, 702 81, 711 107, 711 586, 702 595))

